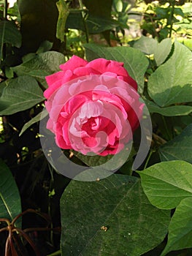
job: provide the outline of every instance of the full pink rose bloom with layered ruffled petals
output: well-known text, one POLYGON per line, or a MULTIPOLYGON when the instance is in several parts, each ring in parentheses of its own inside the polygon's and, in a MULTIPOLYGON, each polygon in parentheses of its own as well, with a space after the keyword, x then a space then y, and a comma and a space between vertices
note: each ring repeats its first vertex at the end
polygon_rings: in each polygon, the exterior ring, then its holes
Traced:
POLYGON ((123 63, 72 56, 46 77, 47 129, 60 148, 82 154, 118 154, 142 118, 137 83, 123 63))

